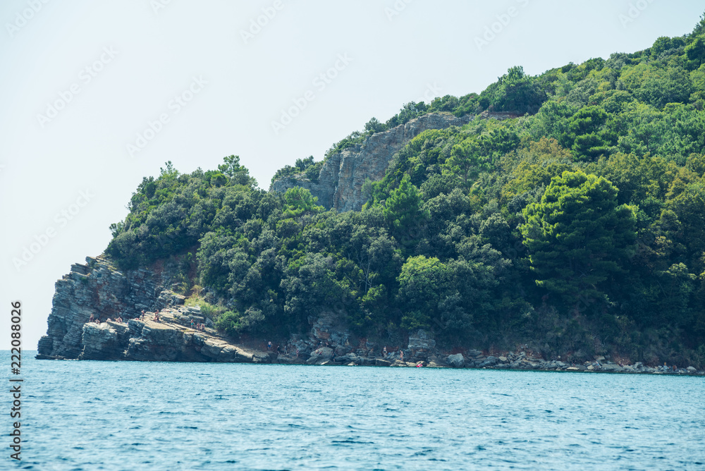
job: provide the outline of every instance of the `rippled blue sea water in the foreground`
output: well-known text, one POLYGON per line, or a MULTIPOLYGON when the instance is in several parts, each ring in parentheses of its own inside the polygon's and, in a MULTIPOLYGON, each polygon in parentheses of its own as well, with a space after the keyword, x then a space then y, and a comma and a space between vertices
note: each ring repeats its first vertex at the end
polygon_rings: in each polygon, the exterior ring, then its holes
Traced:
POLYGON ((18 469, 705 469, 701 377, 27 355, 18 469))

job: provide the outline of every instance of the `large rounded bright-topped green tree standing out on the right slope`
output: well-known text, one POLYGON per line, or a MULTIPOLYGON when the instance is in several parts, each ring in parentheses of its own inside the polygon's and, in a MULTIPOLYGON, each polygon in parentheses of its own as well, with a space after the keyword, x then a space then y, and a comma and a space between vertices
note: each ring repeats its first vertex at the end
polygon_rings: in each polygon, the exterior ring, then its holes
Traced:
POLYGON ((553 178, 524 216, 537 285, 566 302, 601 298, 635 241, 634 209, 618 206, 617 188, 605 178, 582 171, 553 178))

